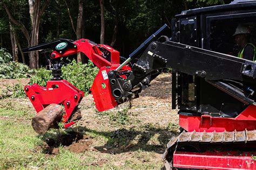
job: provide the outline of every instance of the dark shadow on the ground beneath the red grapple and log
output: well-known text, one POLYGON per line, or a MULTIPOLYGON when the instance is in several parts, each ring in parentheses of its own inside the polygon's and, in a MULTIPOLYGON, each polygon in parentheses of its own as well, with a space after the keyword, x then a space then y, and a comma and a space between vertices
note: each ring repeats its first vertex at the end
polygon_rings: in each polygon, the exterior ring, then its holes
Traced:
POLYGON ((77 151, 77 148, 73 147, 79 147, 81 149, 78 149, 78 152, 84 152, 90 148, 89 145, 95 140, 89 137, 87 133, 105 137, 107 139, 105 145, 96 146, 93 150, 109 154, 138 150, 153 151, 162 154, 167 142, 174 135, 177 135, 177 132, 172 132, 164 128, 145 127, 143 131, 121 128, 115 131, 101 132, 78 126, 67 130, 65 133, 46 133, 43 135, 44 143, 47 144, 44 144, 46 147, 43 147, 43 151, 47 154, 56 154, 56 148, 64 146, 71 149, 71 151, 77 151))

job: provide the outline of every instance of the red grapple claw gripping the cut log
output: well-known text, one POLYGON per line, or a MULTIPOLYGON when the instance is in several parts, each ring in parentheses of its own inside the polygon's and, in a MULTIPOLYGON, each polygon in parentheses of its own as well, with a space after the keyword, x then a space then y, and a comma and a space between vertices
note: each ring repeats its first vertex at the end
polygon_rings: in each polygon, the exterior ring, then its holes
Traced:
POLYGON ((77 89, 69 81, 51 80, 47 82, 46 87, 33 84, 26 85, 24 90, 37 113, 50 104, 62 104, 65 107, 65 114, 63 115, 64 127, 69 127, 75 123, 75 121, 68 122, 68 120, 75 107, 84 97, 84 92, 77 89))

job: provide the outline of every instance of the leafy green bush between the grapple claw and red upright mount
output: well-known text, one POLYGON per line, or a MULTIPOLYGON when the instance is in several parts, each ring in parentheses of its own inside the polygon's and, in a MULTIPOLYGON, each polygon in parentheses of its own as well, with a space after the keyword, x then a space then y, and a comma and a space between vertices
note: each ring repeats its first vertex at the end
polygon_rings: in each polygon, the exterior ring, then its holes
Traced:
POLYGON ((99 69, 91 61, 88 64, 82 64, 73 60, 70 64, 62 67, 62 78, 88 94, 98 71, 99 69))

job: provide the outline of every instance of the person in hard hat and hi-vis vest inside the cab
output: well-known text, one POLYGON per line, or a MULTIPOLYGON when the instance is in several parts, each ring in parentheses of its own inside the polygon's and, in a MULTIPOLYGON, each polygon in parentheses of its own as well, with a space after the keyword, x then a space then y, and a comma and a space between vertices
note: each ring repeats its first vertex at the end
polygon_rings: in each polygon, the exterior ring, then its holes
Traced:
POLYGON ((244 25, 238 25, 233 36, 235 36, 235 43, 241 47, 238 52, 238 57, 254 61, 256 59, 256 49, 252 43, 249 43, 251 36, 250 29, 244 25))

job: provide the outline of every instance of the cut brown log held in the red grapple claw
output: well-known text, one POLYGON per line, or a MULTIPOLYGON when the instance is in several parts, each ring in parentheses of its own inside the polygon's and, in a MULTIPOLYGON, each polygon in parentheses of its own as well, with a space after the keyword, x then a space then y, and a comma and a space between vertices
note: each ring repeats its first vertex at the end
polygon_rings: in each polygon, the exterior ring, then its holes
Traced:
POLYGON ((45 134, 51 127, 56 127, 62 119, 62 106, 50 104, 32 118, 32 127, 39 134, 45 134))

